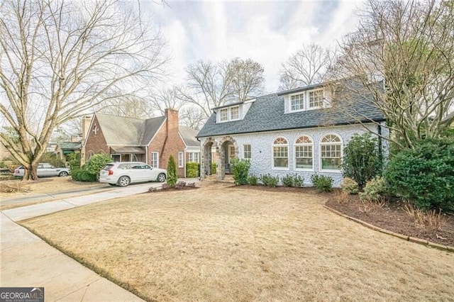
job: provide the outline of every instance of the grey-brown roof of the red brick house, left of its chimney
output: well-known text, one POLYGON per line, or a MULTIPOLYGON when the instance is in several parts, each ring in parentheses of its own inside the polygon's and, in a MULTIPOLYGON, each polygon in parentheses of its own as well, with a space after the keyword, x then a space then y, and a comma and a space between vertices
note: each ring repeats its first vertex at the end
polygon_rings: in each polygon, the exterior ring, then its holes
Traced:
POLYGON ((147 145, 165 121, 165 116, 141 120, 102 113, 96 113, 96 118, 107 145, 123 146, 147 145))

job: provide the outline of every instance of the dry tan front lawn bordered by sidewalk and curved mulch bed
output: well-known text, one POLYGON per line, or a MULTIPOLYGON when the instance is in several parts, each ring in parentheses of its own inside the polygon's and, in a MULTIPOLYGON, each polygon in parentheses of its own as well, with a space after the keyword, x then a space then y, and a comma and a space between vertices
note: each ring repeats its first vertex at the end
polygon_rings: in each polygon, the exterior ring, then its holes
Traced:
POLYGON ((150 301, 452 301, 454 257, 321 196, 210 185, 23 222, 150 301))

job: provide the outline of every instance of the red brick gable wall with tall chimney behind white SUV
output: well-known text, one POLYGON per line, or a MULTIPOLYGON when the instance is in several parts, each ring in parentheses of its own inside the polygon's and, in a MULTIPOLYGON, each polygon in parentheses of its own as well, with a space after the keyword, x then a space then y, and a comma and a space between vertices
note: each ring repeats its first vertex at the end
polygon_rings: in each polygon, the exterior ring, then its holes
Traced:
POLYGON ((165 116, 167 118, 164 125, 148 145, 148 164, 151 162, 151 152, 159 152, 159 167, 167 169, 169 157, 173 155, 177 164, 177 175, 184 177, 184 167, 178 167, 178 152, 184 152, 184 142, 179 136, 178 111, 166 109, 165 116))

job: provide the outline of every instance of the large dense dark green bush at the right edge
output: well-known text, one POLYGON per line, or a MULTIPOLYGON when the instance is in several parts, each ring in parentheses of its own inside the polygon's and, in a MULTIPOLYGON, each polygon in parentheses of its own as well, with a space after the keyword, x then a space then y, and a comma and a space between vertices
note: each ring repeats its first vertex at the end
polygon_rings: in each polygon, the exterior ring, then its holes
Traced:
POLYGON ((384 171, 392 193, 421 209, 454 211, 454 143, 420 140, 394 155, 384 171))

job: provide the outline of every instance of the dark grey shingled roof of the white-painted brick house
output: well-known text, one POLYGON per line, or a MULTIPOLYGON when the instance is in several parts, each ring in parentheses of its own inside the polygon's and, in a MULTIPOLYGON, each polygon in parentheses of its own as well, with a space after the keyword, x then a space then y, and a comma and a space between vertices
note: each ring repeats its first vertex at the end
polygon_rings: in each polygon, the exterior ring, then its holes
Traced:
POLYGON ((250 106, 243 120, 216 123, 216 114, 211 114, 198 138, 240 133, 257 133, 273 130, 316 128, 328 125, 348 125, 367 121, 384 121, 382 112, 372 106, 363 96, 354 101, 340 103, 331 108, 284 113, 282 93, 260 96, 250 106))

